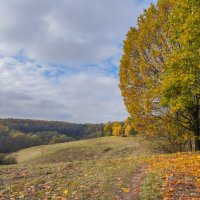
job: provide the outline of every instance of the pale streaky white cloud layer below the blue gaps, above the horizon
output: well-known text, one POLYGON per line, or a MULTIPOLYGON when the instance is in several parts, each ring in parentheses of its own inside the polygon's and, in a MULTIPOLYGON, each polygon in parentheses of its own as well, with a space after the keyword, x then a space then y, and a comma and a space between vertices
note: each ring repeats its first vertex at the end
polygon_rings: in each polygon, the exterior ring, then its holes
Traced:
POLYGON ((126 117, 116 77, 79 72, 55 79, 44 76, 44 72, 56 74, 56 68, 36 66, 34 62, 22 65, 13 58, 0 59, 1 117, 72 122, 105 122, 126 117))

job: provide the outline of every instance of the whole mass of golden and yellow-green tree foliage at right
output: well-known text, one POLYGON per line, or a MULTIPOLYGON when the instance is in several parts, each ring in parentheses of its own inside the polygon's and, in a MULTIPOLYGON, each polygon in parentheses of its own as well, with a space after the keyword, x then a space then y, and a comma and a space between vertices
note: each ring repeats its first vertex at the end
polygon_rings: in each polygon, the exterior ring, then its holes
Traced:
MULTIPOLYGON (((136 130, 155 135, 170 124, 199 136, 199 1, 160 0, 124 42, 120 88, 136 130)), ((171 129, 168 129, 170 132, 171 129)), ((170 132, 171 133, 171 132, 170 132)), ((169 134, 170 134, 169 133, 169 134)))

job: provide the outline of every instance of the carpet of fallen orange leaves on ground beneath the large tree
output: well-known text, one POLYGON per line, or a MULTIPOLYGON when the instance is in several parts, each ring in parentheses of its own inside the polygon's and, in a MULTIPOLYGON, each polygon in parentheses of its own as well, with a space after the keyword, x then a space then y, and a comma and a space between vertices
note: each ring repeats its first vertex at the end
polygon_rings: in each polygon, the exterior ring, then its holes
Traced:
POLYGON ((177 153, 152 157, 149 171, 161 170, 163 199, 200 199, 200 154, 177 153))

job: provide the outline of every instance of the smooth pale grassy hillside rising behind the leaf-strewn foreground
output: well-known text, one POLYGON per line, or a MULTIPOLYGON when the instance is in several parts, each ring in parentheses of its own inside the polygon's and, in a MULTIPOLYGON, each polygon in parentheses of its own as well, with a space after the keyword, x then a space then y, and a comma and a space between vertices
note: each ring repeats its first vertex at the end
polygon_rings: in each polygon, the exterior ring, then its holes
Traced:
POLYGON ((76 142, 43 145, 21 150, 13 155, 18 163, 57 163, 93 159, 145 156, 152 154, 141 135, 135 137, 103 137, 76 142))

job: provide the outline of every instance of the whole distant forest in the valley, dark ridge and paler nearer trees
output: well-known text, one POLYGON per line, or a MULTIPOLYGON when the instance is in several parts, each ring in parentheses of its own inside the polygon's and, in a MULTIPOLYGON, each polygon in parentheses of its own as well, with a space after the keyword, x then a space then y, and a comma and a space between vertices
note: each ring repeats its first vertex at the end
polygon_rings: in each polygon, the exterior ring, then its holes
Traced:
POLYGON ((30 119, 0 119, 0 153, 31 146, 98 137, 104 124, 75 124, 30 119))

